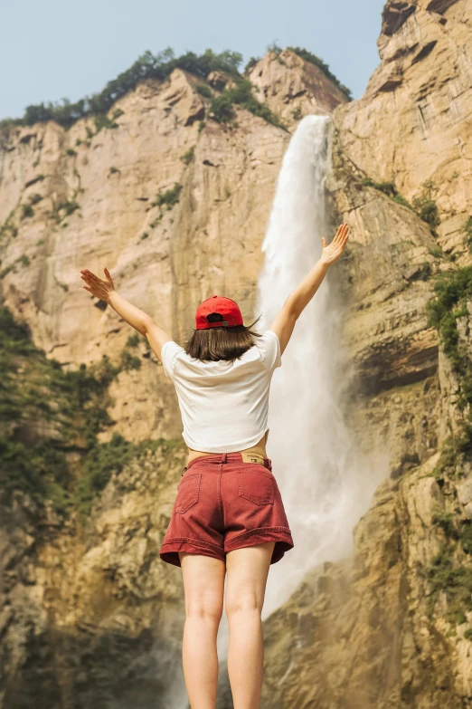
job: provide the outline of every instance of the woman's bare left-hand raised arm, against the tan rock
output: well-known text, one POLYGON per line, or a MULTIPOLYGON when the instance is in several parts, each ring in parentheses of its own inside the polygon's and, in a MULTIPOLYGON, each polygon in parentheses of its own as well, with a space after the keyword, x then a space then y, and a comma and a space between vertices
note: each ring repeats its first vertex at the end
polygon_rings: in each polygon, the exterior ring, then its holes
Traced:
POLYGON ((99 278, 95 273, 91 273, 87 268, 82 269, 80 278, 87 283, 83 288, 95 295, 96 298, 108 302, 113 310, 118 312, 118 315, 124 321, 127 321, 128 325, 131 325, 140 335, 146 337, 156 356, 161 359, 162 346, 168 340, 172 340, 172 338, 156 324, 150 315, 139 310, 136 305, 127 301, 115 290, 107 268, 104 268, 103 272, 105 273, 104 279, 99 278))

